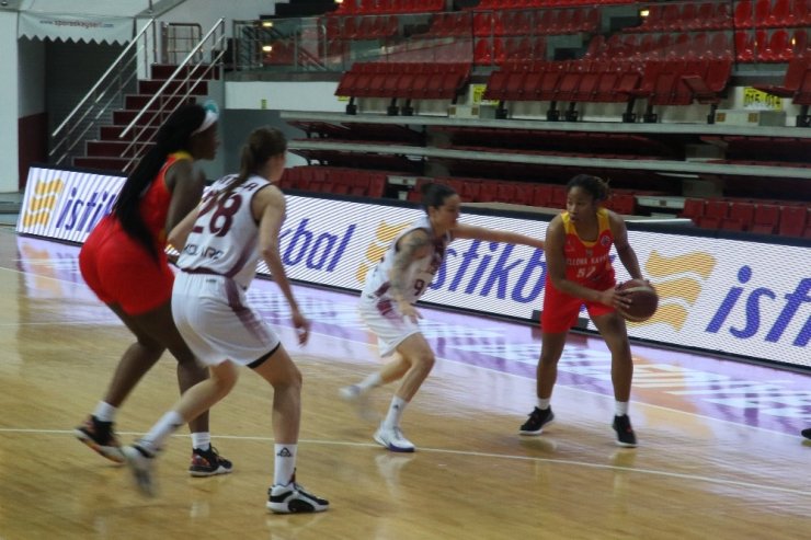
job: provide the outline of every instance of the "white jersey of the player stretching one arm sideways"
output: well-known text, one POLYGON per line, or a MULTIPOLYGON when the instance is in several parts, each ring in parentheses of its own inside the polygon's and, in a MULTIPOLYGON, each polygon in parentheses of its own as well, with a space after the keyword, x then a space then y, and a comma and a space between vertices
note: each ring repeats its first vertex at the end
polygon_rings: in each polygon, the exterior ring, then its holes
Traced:
POLYGON ((445 249, 453 240, 449 232, 446 232, 441 238, 434 238, 433 228, 431 227, 431 220, 427 216, 423 216, 408 229, 402 231, 391 242, 386 253, 384 253, 380 262, 373 266, 366 275, 366 284, 363 288, 363 296, 373 300, 376 298, 390 298, 389 296, 389 271, 395 263, 397 256, 397 243, 402 237, 409 232, 424 229, 434 240, 431 252, 422 258, 413 261, 406 272, 406 284, 407 288, 403 290, 404 299, 409 302, 415 302, 429 288, 431 282, 434 279, 434 275, 442 266, 445 260, 445 249))

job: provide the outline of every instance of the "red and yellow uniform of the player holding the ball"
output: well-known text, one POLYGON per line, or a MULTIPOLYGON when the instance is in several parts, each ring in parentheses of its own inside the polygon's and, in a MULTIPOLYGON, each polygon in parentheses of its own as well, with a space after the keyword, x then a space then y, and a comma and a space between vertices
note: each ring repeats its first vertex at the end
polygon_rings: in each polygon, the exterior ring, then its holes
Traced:
MULTIPOLYGON (((561 219, 566 231, 563 245, 566 278, 595 290, 614 287, 616 285, 614 266, 609 258, 614 235, 608 222, 608 210, 605 208, 597 210, 599 232, 594 242, 586 242, 578 235, 568 211, 561 215, 561 219)), ((555 288, 552 280, 547 276, 540 328, 549 333, 567 332, 578 321, 578 313, 584 305, 592 319, 614 311, 614 308, 603 303, 586 301, 561 292, 555 288)))

